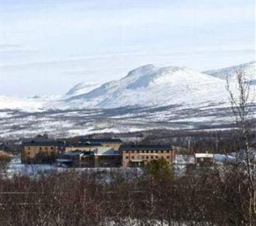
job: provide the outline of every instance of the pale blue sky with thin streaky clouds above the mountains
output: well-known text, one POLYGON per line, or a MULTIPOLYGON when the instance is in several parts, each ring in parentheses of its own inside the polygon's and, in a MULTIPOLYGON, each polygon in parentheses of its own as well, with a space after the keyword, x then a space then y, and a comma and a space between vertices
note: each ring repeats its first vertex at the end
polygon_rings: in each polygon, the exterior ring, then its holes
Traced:
POLYGON ((64 94, 144 64, 251 61, 254 0, 0 0, 0 95, 64 94))

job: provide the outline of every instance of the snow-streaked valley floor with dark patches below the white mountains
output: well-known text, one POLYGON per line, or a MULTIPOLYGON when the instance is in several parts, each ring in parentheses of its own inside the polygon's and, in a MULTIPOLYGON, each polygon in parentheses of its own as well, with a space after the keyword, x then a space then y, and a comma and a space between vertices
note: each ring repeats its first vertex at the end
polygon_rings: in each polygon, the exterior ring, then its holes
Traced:
MULTIPOLYGON (((253 106, 256 112, 256 105, 253 106)), ((122 109, 51 110, 22 112, 0 110, 0 138, 15 139, 48 133, 73 137, 92 133, 126 133, 152 129, 222 130, 234 128, 230 109, 124 107, 122 109)))

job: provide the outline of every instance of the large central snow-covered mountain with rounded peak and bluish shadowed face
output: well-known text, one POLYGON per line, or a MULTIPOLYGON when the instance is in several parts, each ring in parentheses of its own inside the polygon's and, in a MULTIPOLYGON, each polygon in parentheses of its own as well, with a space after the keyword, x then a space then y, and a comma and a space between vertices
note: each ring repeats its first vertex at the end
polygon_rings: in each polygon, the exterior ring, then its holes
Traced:
POLYGON ((115 108, 171 104, 195 105, 223 102, 225 81, 211 75, 175 66, 141 66, 126 77, 108 82, 86 94, 61 103, 67 108, 115 108))

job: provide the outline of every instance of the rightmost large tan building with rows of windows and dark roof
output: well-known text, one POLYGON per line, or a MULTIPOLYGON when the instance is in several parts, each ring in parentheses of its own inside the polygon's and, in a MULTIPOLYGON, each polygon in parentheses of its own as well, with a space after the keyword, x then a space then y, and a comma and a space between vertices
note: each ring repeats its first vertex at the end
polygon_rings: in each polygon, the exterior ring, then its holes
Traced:
POLYGON ((122 145, 123 167, 143 167, 152 160, 164 158, 170 164, 175 161, 175 151, 170 145, 122 145))

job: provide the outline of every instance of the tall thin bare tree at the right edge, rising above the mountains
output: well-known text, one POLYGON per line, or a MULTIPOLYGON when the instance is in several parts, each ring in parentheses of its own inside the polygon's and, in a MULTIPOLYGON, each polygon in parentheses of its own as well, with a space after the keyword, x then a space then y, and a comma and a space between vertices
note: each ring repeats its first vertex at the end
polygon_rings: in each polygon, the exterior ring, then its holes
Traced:
MULTIPOLYGON (((251 125, 250 113, 252 107, 252 92, 250 78, 244 70, 239 69, 236 72, 236 91, 232 91, 230 80, 227 78, 227 91, 236 124, 241 139, 241 151, 243 154, 244 171, 246 174, 246 185, 248 188, 248 225, 256 224, 256 164, 255 156, 250 148, 251 125)), ((241 151, 239 154, 241 154, 241 151)), ((242 183, 243 181, 241 181, 242 183)))

